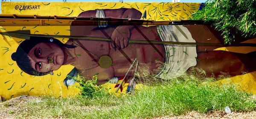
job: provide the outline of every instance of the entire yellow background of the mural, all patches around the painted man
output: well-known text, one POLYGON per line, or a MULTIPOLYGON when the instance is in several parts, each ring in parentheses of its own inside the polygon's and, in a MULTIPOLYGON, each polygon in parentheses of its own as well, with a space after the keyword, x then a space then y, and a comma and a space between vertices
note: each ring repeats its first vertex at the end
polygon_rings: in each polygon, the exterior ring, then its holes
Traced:
MULTIPOLYGON (((2 2, 3 14, 37 14, 56 16, 78 16, 83 11, 95 9, 118 9, 135 8, 142 14, 146 12, 147 20, 187 20, 191 14, 198 10, 200 3, 102 3, 102 2, 2 2), (15 6, 37 5, 40 9, 16 10, 15 6)), ((141 18, 143 19, 143 18, 141 18)), ((70 26, 2 26, 1 32, 30 30, 31 34, 70 35, 70 26)), ((66 42, 68 39, 59 39, 66 42)), ((76 85, 67 87, 63 84, 66 75, 73 69, 71 65, 64 65, 54 75, 35 77, 28 75, 17 67, 11 59, 11 54, 16 51, 17 46, 23 39, 0 35, 0 96, 5 99, 20 95, 52 95, 52 96, 74 96, 79 93, 76 85)), ((243 76, 243 85, 256 85, 255 73, 243 76)), ((239 77, 239 76, 238 76, 239 77)), ((224 79, 223 83, 226 80, 224 79)), ((111 92, 116 84, 109 84, 111 92)), ((128 84, 124 84, 122 93, 125 93, 128 84)), ((253 86, 243 89, 256 94, 253 86), (249 89, 250 88, 250 89, 249 89)), ((255 86, 254 86, 255 87, 255 86)), ((119 95, 121 92, 116 93, 119 95)))

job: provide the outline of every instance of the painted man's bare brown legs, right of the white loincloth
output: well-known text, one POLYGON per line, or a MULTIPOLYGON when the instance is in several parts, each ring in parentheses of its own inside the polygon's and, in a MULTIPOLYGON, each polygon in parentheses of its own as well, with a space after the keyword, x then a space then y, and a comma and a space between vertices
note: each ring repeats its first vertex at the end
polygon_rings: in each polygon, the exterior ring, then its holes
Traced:
MULTIPOLYGON (((196 42, 223 43, 221 33, 207 25, 187 25, 193 39, 196 42)), ((254 38, 256 39, 256 38, 254 38)), ((241 40, 241 38, 236 41, 241 40)), ((207 76, 218 77, 222 73, 236 76, 243 72, 255 71, 256 55, 239 54, 229 51, 213 51, 218 46, 197 46, 198 61, 196 67, 202 68, 207 76), (251 60, 250 60, 251 59, 251 60)), ((255 54, 255 53, 254 53, 255 54)))

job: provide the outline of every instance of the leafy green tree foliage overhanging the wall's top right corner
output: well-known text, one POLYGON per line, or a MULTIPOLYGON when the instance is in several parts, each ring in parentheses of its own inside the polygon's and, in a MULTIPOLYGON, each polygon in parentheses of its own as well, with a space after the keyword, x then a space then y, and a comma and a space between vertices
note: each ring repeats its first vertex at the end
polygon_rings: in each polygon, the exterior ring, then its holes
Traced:
POLYGON ((193 14, 193 20, 206 20, 222 31, 224 43, 231 44, 236 35, 255 37, 256 0, 208 0, 206 6, 193 14))

